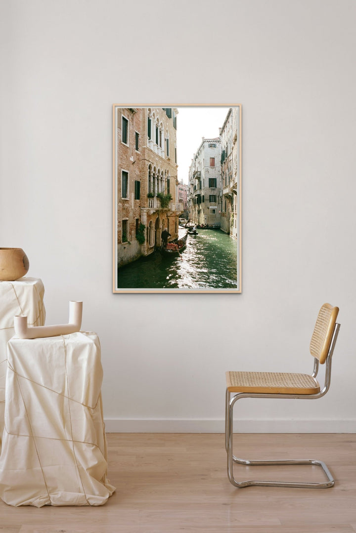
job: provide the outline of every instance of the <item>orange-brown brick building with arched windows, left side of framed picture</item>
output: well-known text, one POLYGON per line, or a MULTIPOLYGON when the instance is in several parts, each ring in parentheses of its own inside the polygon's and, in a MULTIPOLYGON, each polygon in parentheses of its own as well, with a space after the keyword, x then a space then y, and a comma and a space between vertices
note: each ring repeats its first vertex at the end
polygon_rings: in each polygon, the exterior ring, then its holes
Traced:
POLYGON ((117 265, 178 237, 177 109, 115 108, 117 265))

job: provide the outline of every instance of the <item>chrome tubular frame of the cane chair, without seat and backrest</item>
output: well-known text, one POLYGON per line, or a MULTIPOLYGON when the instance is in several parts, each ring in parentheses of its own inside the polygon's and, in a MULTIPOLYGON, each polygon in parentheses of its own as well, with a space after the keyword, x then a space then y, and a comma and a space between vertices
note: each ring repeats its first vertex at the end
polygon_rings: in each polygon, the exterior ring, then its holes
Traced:
MULTIPOLYGON (((225 410, 225 448, 227 452, 227 475, 230 482, 234 487, 243 488, 248 486, 259 487, 298 487, 298 488, 316 488, 323 489, 333 487, 334 479, 325 463, 318 459, 286 459, 279 461, 249 461, 248 459, 239 459, 233 455, 233 407, 237 400, 241 398, 281 398, 281 399, 301 399, 301 400, 314 400, 321 398, 327 393, 330 387, 331 377, 331 357, 333 357, 335 343, 339 332, 340 325, 335 324, 333 337, 331 338, 330 348, 327 359, 325 361, 325 384, 323 389, 317 394, 258 394, 248 392, 238 392, 233 398, 231 398, 231 392, 226 389, 226 410, 225 410), (323 483, 311 483, 311 482, 289 482, 289 481, 260 481, 260 480, 248 480, 248 481, 236 481, 233 474, 234 463, 242 465, 317 465, 321 466, 323 472, 327 477, 327 481, 323 483)), ((314 369, 312 376, 315 377, 318 374, 319 361, 314 360, 314 369)))

